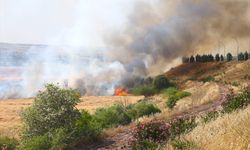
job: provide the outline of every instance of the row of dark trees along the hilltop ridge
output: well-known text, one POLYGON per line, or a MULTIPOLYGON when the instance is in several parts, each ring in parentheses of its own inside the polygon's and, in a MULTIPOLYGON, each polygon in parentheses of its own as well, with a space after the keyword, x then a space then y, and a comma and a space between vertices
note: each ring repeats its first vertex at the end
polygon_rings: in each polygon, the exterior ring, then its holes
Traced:
MULTIPOLYGON (((204 54, 204 55, 199 55, 197 54, 196 56, 191 55, 190 57, 183 57, 182 62, 183 63, 195 63, 195 62, 214 62, 214 61, 232 61, 233 60, 233 55, 231 53, 227 53, 226 56, 216 54, 215 56, 212 54, 204 54)), ((245 61, 250 59, 250 53, 245 52, 245 53, 239 53, 237 56, 238 61, 245 61)))

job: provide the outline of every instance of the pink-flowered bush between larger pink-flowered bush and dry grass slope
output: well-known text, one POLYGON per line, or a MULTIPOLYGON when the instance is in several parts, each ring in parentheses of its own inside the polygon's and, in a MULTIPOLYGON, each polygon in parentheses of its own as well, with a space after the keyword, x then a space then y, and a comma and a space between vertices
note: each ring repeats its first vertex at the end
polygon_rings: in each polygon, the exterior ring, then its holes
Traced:
POLYGON ((170 124, 170 136, 174 139, 176 136, 179 136, 183 133, 190 132, 193 128, 197 126, 194 117, 189 118, 177 118, 171 120, 170 124))

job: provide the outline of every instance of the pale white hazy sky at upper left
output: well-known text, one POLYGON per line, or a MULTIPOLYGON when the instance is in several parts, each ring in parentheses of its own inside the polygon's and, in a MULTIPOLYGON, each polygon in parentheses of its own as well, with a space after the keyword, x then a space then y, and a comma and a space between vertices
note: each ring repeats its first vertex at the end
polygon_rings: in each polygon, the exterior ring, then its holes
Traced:
POLYGON ((0 0, 0 42, 102 47, 135 0, 0 0))

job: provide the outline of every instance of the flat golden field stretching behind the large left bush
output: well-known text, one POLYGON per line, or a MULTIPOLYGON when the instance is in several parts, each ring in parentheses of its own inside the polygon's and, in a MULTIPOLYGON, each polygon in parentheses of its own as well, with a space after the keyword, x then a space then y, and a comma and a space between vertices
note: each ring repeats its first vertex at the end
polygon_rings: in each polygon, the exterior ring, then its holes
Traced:
MULTIPOLYGON (((81 98, 78 109, 85 109, 93 113, 97 108, 107 107, 114 103, 131 104, 142 99, 143 96, 86 96, 81 98)), ((20 112, 32 104, 32 99, 0 100, 0 135, 17 137, 21 129, 20 112)))

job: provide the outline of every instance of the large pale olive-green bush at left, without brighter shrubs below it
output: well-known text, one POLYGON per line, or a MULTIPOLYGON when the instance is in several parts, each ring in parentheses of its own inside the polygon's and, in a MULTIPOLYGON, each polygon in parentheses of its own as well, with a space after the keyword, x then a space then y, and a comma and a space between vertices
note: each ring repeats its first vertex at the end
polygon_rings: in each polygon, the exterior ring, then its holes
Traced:
POLYGON ((40 91, 31 107, 22 112, 25 137, 43 135, 57 128, 73 128, 80 112, 75 108, 80 95, 72 89, 48 84, 40 91))

